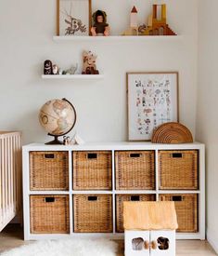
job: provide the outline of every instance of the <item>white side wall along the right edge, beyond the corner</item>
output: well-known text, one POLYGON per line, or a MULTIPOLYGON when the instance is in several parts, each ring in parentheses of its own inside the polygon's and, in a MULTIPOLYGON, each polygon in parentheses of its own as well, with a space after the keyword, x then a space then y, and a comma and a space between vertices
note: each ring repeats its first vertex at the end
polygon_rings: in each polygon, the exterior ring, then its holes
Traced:
POLYGON ((218 252, 217 0, 199 1, 197 139, 206 143, 207 237, 218 252))

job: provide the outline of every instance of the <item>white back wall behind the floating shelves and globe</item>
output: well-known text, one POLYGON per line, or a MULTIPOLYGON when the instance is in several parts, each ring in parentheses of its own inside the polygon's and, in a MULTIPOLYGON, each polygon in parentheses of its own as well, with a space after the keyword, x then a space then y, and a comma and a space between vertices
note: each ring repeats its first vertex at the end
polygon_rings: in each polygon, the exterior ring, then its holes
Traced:
MULTIPOLYGON (((180 121, 195 133, 197 91, 197 0, 166 0, 169 23, 182 38, 142 42, 70 42, 52 40, 56 32, 55 0, 0 1, 0 128, 20 129, 24 142, 46 141, 38 122, 40 107, 50 99, 69 99, 76 107, 75 130, 85 141, 125 141, 126 82, 130 71, 178 71, 180 121), (99 82, 45 81, 43 62, 62 67, 81 63, 83 49, 98 55, 105 73, 99 82)), ((143 22, 153 1, 93 0, 103 8, 112 34, 122 33, 135 5, 143 22)))

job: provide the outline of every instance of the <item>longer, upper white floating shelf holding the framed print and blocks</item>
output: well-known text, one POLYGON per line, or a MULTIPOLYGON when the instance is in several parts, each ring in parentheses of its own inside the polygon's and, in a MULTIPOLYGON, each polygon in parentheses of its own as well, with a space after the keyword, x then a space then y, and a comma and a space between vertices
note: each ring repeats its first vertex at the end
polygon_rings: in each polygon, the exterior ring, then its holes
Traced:
POLYGON ((148 41, 148 40, 178 40, 181 39, 182 35, 110 35, 110 36, 53 36, 53 40, 56 42, 66 41, 148 41))

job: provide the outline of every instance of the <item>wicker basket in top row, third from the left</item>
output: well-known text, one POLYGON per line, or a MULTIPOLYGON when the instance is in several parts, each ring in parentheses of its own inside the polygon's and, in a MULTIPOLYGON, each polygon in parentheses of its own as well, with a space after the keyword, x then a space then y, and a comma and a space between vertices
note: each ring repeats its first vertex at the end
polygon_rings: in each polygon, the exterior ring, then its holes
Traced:
POLYGON ((154 166, 154 151, 115 152, 116 189, 155 189, 154 166))

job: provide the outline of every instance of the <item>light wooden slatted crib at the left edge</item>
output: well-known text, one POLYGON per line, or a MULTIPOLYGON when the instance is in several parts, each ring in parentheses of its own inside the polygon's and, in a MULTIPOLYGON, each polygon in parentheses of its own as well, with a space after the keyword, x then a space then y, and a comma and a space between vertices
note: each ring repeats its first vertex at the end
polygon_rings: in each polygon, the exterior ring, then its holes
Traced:
POLYGON ((21 220, 21 133, 0 131, 0 232, 21 220))

